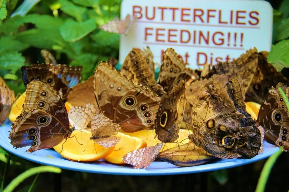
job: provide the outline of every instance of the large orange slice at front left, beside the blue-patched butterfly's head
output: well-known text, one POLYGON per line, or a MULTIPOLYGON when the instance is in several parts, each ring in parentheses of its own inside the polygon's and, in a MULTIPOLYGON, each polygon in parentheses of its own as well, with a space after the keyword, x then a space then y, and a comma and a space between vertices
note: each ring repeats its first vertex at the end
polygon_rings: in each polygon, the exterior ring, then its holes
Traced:
POLYGON ((71 134, 73 138, 68 138, 66 142, 63 140, 53 148, 58 153, 61 152, 60 155, 63 157, 73 161, 96 161, 103 159, 114 151, 114 147, 105 149, 105 147, 90 140, 91 136, 91 132, 88 130, 82 132, 75 130, 71 134))

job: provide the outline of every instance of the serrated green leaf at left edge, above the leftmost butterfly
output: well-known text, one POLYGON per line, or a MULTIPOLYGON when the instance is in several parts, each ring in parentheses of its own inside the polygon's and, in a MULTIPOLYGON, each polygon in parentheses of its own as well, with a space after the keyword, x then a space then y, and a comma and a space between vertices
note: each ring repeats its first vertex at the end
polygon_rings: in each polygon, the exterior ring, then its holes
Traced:
POLYGON ((11 73, 16 73, 22 65, 24 65, 25 58, 17 51, 4 52, 0 55, 0 69, 11 70, 11 73))

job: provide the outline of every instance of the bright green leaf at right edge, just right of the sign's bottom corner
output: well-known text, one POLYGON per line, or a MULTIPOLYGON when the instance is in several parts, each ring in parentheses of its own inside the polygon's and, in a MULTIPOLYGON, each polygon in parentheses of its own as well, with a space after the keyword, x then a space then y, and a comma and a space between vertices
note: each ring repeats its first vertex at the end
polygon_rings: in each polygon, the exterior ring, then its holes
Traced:
POLYGON ((289 40, 283 40, 272 47, 267 57, 268 63, 271 63, 277 71, 284 67, 289 67, 289 40))

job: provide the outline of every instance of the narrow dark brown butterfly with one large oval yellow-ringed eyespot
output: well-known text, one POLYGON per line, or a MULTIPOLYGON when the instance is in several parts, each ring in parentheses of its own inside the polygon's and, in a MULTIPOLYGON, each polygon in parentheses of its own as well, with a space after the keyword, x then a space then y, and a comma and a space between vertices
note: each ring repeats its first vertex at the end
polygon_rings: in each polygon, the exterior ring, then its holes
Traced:
POLYGON ((164 94, 155 119, 155 134, 162 142, 175 142, 183 121, 186 105, 186 81, 181 80, 171 92, 164 94))

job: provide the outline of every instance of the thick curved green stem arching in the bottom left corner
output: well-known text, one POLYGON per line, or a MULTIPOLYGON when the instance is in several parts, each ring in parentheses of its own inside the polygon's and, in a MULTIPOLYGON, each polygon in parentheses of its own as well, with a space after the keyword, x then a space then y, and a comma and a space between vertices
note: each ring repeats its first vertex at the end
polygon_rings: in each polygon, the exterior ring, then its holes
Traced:
POLYGON ((20 175, 18 175, 16 178, 14 178, 9 185, 4 189, 3 192, 12 192, 23 180, 26 178, 41 172, 53 172, 53 173, 61 173, 61 169, 53 166, 39 166, 31 168, 20 175))

